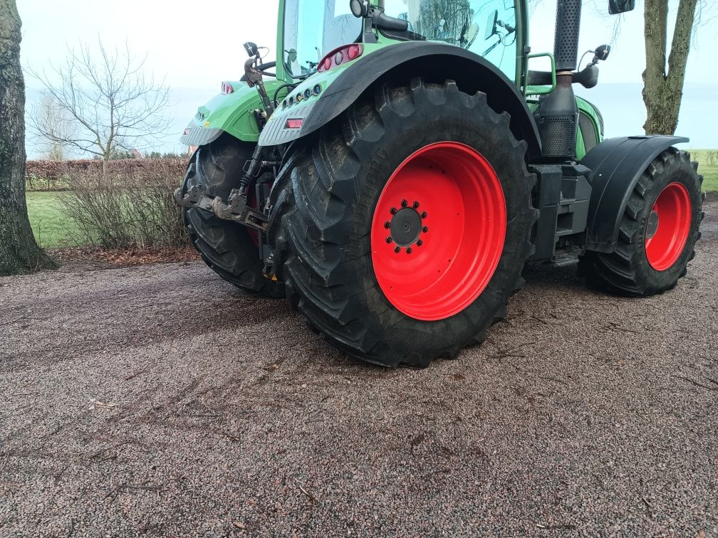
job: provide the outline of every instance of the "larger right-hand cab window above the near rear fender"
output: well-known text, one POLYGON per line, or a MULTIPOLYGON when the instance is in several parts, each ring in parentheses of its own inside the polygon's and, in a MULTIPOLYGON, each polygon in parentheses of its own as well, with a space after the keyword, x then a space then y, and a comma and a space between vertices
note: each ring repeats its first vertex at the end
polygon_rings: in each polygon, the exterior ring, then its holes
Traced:
POLYGON ((384 0, 384 10, 411 32, 469 49, 516 77, 514 0, 384 0))

